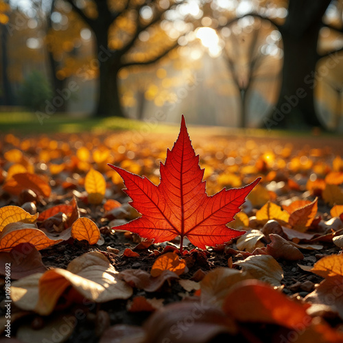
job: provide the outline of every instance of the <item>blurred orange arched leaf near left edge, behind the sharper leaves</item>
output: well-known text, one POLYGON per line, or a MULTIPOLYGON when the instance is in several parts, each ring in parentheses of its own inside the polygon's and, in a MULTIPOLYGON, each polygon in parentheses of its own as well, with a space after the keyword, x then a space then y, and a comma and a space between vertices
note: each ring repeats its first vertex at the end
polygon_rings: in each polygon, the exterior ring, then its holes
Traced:
POLYGON ((37 196, 45 198, 49 198, 51 194, 50 185, 40 176, 31 173, 14 174, 10 180, 5 182, 3 189, 15 196, 19 196, 23 189, 32 189, 37 196))

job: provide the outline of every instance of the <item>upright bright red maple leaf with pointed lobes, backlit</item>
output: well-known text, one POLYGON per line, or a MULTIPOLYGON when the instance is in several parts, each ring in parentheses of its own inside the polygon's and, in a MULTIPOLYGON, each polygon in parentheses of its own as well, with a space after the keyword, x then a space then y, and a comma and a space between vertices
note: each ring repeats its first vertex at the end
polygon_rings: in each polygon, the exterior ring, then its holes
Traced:
POLYGON ((119 173, 130 196, 130 205, 142 217, 115 229, 129 230, 141 237, 154 239, 155 243, 170 241, 180 235, 180 253, 183 237, 194 246, 224 244, 243 235, 245 231, 228 228, 226 224, 240 211, 246 196, 260 178, 246 187, 222 189, 214 196, 207 196, 204 169, 200 168, 199 155, 193 150, 185 117, 182 115, 180 134, 174 147, 167 150, 165 164, 161 163, 161 182, 154 185, 145 176, 135 175, 109 165, 119 173))

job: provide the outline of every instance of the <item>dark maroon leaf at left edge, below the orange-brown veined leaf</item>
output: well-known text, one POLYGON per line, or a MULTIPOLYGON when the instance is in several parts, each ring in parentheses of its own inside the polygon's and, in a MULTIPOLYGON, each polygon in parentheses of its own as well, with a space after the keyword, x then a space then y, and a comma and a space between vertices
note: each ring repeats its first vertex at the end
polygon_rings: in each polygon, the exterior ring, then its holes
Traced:
POLYGON ((17 280, 25 276, 42 273, 47 270, 42 262, 42 256, 29 243, 22 243, 10 252, 0 252, 0 274, 5 275, 5 265, 10 263, 11 279, 17 280))

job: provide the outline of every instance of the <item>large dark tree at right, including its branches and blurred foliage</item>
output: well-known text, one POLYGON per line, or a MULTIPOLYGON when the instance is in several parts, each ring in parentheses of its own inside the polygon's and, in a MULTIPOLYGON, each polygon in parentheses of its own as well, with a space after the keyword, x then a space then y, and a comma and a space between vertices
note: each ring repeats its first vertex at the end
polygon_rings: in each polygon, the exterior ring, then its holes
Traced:
POLYGON ((325 54, 318 52, 322 27, 330 27, 342 32, 342 11, 338 15, 340 17, 338 25, 333 26, 328 20, 323 21, 329 5, 342 9, 341 0, 250 0, 237 1, 235 8, 214 12, 220 22, 220 28, 230 27, 242 18, 252 17, 269 21, 281 33, 283 44, 281 89, 272 114, 265 118, 265 126, 268 128, 298 127, 304 124, 322 126, 315 108, 316 67, 321 58, 342 51, 339 47, 325 54), (226 15, 224 23, 220 18, 223 12, 226 15))

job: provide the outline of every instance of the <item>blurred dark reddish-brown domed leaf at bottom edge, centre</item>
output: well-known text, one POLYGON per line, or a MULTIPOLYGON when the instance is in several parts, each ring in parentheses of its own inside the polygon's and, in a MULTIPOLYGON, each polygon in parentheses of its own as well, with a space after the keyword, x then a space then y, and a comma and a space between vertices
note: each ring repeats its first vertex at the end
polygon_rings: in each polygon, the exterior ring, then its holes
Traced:
POLYGON ((145 322, 144 329, 145 343, 206 343, 221 333, 232 335, 237 332, 235 322, 217 307, 187 301, 155 311, 145 322))

